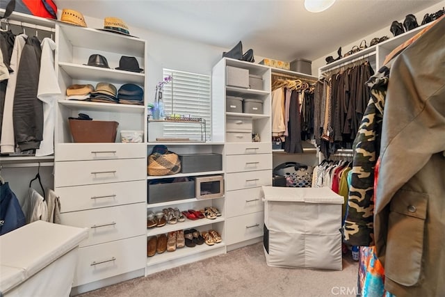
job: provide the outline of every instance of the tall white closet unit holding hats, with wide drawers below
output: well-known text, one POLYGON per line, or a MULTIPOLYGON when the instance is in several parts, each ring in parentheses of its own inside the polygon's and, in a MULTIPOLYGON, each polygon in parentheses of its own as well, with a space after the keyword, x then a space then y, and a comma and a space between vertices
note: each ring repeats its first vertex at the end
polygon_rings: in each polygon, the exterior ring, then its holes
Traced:
MULTIPOLYGON (((63 93, 72 84, 112 83, 119 89, 135 83, 147 94, 145 40, 56 24, 56 74, 63 93), (85 65, 92 54, 111 68, 85 65), (115 70, 121 56, 134 56, 145 72, 115 70)), ((120 131, 146 135, 146 103, 140 106, 58 100, 55 133, 54 190, 60 196, 64 225, 88 227, 79 247, 73 292, 90 291, 145 275, 147 247, 147 149, 145 143, 121 143, 120 131), (116 121, 115 143, 74 143, 69 117, 116 121)))

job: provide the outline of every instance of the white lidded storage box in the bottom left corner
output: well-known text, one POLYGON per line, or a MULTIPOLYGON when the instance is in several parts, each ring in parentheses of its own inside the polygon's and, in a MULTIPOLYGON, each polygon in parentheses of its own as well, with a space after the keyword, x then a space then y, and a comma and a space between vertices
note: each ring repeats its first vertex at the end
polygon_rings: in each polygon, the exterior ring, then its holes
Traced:
MULTIPOLYGON (((37 220, 0 236, 3 296, 69 296, 88 228, 37 220)), ((0 294, 0 295, 1 295, 0 294)))

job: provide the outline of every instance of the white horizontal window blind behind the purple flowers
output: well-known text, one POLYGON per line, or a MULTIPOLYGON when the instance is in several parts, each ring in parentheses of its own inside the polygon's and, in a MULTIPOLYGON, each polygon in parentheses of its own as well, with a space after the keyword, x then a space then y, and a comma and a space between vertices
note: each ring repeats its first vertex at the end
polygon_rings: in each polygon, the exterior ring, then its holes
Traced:
MULTIPOLYGON (((163 87, 165 115, 190 115, 206 122, 203 140, 211 141, 211 77, 204 74, 163 69, 163 77, 172 76, 172 81, 163 87)), ((201 140, 203 127, 191 123, 168 123, 163 125, 163 136, 201 140)))

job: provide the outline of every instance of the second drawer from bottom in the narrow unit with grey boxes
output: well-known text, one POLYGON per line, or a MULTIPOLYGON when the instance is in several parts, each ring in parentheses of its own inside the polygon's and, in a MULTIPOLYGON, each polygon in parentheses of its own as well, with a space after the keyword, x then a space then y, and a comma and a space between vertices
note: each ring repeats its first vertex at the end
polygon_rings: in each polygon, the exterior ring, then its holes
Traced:
POLYGON ((226 216, 242 216, 252 212, 264 211, 263 193, 261 188, 245 188, 225 193, 226 216))

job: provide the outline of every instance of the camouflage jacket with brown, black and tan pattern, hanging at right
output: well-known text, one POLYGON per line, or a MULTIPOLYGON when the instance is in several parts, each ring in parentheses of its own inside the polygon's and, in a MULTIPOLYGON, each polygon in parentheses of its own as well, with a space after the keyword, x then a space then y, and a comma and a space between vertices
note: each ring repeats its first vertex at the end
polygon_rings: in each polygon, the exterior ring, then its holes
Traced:
POLYGON ((389 80, 389 65, 368 81, 371 88, 366 111, 353 143, 353 169, 348 194, 344 241, 353 246, 373 246, 374 169, 380 152, 383 108, 389 80))

